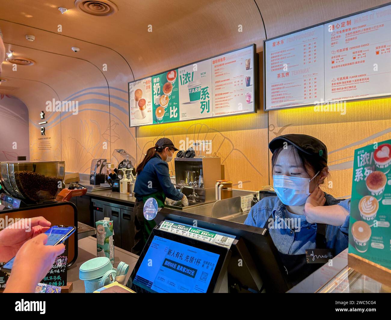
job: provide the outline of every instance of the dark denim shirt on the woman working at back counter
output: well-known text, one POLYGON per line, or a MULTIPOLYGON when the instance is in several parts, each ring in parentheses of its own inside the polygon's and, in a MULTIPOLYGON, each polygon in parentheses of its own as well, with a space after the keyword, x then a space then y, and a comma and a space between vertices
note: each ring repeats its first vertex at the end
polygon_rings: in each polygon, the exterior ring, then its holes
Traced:
POLYGON ((137 175, 135 183, 136 199, 142 201, 143 196, 159 191, 163 191, 164 195, 172 200, 179 201, 183 198, 183 193, 179 192, 171 182, 169 165, 156 153, 137 175))

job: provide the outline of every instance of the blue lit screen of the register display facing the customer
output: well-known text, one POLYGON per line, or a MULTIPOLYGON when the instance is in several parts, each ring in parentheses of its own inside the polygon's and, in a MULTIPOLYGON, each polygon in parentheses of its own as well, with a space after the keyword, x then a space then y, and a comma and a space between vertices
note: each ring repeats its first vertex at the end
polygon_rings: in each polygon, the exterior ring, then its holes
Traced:
POLYGON ((219 257, 213 252, 154 236, 133 282, 155 292, 204 293, 219 257))

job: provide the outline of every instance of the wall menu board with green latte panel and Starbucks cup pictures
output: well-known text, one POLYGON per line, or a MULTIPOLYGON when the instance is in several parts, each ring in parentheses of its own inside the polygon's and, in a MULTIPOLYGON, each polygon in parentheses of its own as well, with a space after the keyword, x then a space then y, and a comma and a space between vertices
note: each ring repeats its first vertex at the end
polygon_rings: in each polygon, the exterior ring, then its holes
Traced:
POLYGON ((255 44, 129 82, 129 126, 256 111, 255 44))

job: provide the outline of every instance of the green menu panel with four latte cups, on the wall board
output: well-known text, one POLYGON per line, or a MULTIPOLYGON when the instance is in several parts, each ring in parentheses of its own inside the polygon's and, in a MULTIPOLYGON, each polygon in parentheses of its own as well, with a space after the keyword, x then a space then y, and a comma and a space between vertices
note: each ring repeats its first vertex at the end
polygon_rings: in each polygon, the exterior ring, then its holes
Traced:
POLYGON ((178 69, 152 77, 153 123, 179 121, 178 69))

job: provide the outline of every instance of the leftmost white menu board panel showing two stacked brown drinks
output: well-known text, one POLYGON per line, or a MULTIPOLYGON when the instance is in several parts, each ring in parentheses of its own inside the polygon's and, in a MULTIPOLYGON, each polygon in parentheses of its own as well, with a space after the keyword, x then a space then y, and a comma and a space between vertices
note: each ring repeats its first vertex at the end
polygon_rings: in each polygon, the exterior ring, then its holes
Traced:
POLYGON ((151 78, 129 83, 129 114, 133 125, 152 124, 151 78))

